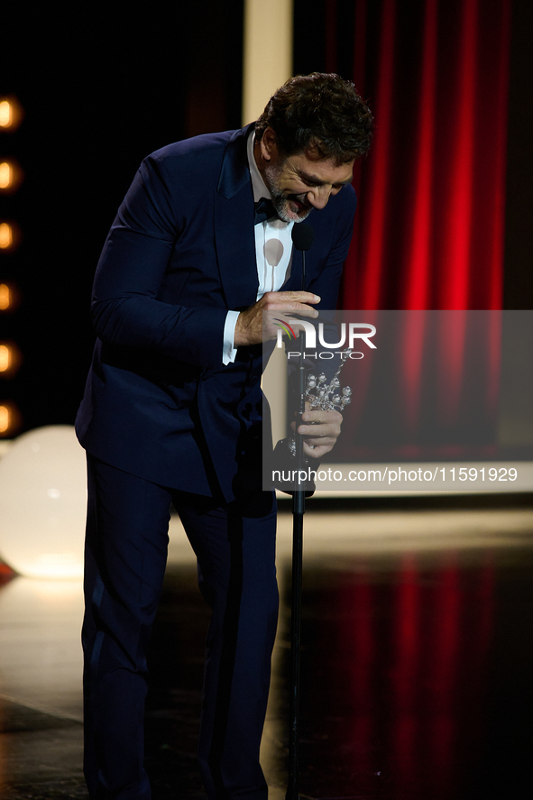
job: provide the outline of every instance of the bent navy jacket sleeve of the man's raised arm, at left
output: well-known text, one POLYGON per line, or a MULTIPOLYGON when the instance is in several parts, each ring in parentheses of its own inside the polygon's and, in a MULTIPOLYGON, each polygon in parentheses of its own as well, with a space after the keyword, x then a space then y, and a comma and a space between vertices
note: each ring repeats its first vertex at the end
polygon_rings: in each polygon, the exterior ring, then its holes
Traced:
POLYGON ((164 160, 152 155, 142 162, 98 262, 91 316, 106 344, 219 365, 225 309, 186 308, 158 297, 187 213, 194 211, 191 197, 164 160))

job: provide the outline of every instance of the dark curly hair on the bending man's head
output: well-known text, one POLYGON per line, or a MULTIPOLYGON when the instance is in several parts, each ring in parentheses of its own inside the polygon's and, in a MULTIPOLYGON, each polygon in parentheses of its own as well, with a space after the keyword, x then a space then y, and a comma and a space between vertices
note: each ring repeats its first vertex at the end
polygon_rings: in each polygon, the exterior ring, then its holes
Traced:
POLYGON ((255 135, 261 140, 270 125, 283 155, 315 150, 340 166, 368 151, 372 122, 352 81, 334 72, 312 72, 289 78, 272 95, 255 123, 255 135))

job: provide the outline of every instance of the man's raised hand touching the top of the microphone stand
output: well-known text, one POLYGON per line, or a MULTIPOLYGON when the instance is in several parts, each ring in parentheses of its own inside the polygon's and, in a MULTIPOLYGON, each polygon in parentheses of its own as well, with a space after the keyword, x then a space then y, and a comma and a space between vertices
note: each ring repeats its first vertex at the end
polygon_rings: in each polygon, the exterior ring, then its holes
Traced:
MULTIPOLYGON (((268 339, 275 339, 280 328, 274 324, 273 317, 284 322, 294 314, 314 319, 318 312, 312 306, 319 302, 318 295, 310 291, 267 291, 262 299, 239 314, 235 325, 234 346, 261 345, 268 339), (264 315, 264 325, 263 311, 275 312, 264 315)), ((298 326, 292 327, 299 330, 298 326)))

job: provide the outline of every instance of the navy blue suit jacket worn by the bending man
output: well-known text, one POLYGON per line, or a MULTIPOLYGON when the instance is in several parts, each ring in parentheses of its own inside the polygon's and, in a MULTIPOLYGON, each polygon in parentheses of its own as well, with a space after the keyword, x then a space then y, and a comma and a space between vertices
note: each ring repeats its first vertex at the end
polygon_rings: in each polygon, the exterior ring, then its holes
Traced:
MULTIPOLYGON (((250 126, 152 153, 119 208, 98 262, 98 336, 78 438, 125 472, 230 501, 261 485, 262 347, 224 365, 228 309, 256 299, 250 126)), ((353 229, 346 187, 308 223, 307 288, 335 308, 353 229)), ((294 253, 283 290, 299 289, 294 253)))

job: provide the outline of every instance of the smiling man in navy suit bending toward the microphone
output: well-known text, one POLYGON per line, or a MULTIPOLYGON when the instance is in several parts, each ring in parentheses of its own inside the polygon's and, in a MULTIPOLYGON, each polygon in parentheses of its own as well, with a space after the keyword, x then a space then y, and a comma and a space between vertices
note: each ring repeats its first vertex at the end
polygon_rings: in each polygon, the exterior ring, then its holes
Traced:
MULTIPOLYGON (((354 159, 372 115, 335 75, 291 78, 257 123, 152 153, 96 270, 98 336, 77 418, 87 449, 84 692, 93 798, 147 800, 146 650, 170 503, 213 609, 199 760, 210 800, 265 800, 259 746, 278 594, 275 498, 262 492, 265 310, 335 308, 355 209, 354 159), (315 229, 300 290, 292 225, 315 229)), ((320 457, 336 412, 299 433, 320 457)))

